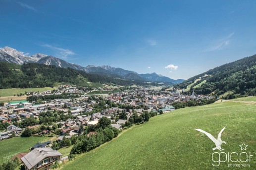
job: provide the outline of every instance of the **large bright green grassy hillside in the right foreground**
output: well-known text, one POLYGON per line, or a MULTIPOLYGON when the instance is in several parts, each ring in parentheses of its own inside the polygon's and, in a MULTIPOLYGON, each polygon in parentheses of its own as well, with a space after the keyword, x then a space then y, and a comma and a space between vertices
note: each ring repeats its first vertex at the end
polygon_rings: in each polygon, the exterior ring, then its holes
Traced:
MULTIPOLYGON (((218 136, 223 152, 241 153, 256 148, 256 104, 252 102, 216 102, 186 107, 155 116, 150 122, 135 126, 121 136, 65 164, 63 170, 211 170, 215 144, 196 128, 218 136)), ((253 154, 255 155, 255 153, 253 154)), ((239 163, 237 163, 239 164, 239 163)), ((253 159, 248 169, 256 169, 253 159)), ((216 169, 232 169, 228 162, 216 169)))

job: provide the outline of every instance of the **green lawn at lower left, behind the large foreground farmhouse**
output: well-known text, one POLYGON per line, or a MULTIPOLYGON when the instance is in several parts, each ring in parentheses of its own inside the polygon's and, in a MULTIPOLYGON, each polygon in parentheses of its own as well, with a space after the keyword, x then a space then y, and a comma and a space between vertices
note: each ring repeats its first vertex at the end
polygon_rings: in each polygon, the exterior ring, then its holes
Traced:
POLYGON ((14 137, 0 141, 0 164, 4 160, 10 159, 20 152, 29 152, 29 148, 38 142, 45 142, 50 140, 51 137, 45 136, 31 136, 31 137, 14 137))

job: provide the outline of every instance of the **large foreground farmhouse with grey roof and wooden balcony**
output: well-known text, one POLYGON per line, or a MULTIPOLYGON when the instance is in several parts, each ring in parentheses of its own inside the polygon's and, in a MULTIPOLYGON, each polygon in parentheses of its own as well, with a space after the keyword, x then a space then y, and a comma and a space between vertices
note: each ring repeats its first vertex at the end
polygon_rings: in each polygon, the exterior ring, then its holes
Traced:
POLYGON ((48 148, 35 148, 21 158, 26 170, 50 170, 54 162, 61 162, 61 153, 48 148))

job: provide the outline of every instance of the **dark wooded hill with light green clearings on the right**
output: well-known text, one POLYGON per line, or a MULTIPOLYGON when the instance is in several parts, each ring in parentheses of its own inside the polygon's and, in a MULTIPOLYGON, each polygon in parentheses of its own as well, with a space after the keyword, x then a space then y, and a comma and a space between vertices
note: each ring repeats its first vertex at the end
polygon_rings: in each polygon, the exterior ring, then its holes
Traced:
POLYGON ((213 94, 227 99, 241 95, 255 96, 256 55, 210 69, 175 87, 190 87, 190 91, 193 89, 196 94, 213 94))

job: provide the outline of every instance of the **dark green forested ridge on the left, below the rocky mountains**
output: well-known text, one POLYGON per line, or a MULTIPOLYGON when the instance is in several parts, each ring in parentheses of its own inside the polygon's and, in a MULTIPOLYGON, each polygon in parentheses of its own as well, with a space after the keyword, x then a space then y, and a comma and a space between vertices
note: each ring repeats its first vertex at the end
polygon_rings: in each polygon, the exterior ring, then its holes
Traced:
MULTIPOLYGON (((125 81, 99 74, 86 73, 72 68, 58 68, 36 63, 16 65, 0 62, 0 89, 53 87, 54 83, 68 83, 77 86, 92 87, 101 84, 147 85, 142 81, 125 81)), ((153 83, 157 85, 156 83, 153 83)))

